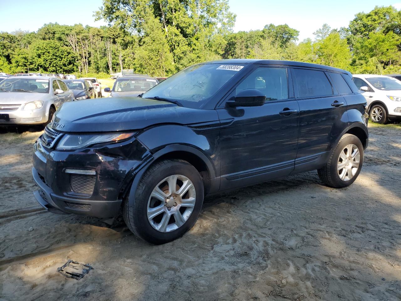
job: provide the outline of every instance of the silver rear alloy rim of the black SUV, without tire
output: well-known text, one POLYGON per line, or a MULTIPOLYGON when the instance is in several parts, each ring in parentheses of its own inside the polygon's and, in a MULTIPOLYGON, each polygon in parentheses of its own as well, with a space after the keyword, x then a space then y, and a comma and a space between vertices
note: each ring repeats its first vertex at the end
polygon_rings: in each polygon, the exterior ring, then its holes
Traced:
POLYGON ((349 181, 358 171, 360 164, 359 148, 355 144, 348 144, 338 157, 337 172, 342 181, 349 181))

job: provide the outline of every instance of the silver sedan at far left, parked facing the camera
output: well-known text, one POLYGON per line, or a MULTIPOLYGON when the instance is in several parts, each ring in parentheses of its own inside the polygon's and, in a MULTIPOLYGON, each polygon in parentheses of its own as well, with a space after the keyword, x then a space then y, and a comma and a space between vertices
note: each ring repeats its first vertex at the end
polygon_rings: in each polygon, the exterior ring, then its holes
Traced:
POLYGON ((0 124, 47 124, 72 100, 73 92, 54 77, 11 76, 0 82, 0 124))

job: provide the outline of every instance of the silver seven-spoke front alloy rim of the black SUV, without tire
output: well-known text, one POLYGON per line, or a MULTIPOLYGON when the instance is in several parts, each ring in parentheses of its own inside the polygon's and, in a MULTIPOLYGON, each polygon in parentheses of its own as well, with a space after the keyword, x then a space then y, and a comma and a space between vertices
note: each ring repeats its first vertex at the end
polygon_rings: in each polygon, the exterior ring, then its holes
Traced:
POLYGON ((150 194, 148 221, 159 232, 174 231, 188 220, 195 202, 195 186, 190 179, 183 175, 166 177, 150 194))

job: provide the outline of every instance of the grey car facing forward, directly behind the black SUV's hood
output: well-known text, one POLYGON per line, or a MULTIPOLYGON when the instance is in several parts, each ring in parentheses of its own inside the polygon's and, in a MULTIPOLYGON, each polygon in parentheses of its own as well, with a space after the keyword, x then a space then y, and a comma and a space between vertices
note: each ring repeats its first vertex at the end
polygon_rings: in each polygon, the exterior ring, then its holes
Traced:
POLYGON ((158 83, 156 78, 149 76, 122 76, 116 79, 112 89, 106 87, 104 92, 111 92, 110 97, 138 96, 158 83))

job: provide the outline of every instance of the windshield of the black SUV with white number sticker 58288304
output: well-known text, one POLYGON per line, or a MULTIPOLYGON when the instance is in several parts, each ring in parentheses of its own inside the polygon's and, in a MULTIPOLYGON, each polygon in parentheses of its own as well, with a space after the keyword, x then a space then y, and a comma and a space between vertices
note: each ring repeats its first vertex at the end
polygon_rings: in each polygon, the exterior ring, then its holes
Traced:
POLYGON ((143 98, 178 100, 188 108, 202 108, 244 65, 193 65, 159 83, 143 98))

